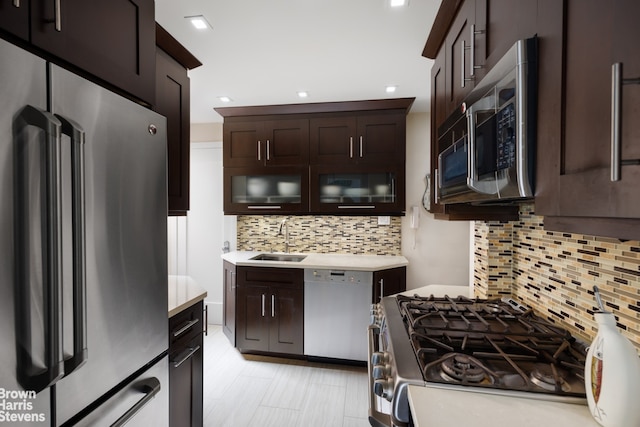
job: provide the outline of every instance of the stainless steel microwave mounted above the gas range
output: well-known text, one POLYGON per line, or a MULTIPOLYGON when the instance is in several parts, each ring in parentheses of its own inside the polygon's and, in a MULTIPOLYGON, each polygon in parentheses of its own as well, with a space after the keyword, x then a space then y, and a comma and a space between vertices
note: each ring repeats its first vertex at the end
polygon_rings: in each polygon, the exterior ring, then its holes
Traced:
POLYGON ((518 41, 438 130, 438 203, 533 197, 537 39, 518 41))

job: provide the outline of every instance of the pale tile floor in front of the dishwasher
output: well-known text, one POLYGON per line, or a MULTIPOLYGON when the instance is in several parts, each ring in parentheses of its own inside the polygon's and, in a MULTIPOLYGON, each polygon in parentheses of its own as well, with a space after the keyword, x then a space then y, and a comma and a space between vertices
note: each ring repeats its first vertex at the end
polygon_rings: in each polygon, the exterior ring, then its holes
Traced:
POLYGON ((204 337, 205 427, 369 427, 365 367, 242 355, 204 337))

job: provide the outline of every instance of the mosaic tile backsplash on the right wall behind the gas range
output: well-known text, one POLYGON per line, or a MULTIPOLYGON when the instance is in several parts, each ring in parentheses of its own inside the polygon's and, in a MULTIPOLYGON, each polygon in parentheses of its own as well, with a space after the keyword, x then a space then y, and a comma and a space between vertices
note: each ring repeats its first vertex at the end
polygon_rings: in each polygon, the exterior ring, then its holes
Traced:
POLYGON ((547 231, 534 210, 521 205, 519 221, 476 221, 476 295, 511 294, 590 342, 596 285, 621 333, 640 350, 640 242, 547 231))

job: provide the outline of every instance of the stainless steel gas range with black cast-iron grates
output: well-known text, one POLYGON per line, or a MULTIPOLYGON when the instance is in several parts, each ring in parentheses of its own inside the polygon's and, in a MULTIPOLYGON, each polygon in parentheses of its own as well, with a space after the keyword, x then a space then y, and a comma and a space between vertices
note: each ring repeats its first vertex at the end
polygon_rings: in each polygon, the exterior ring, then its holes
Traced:
POLYGON ((372 426, 408 424, 410 384, 586 404, 584 344, 513 300, 397 295, 372 314, 372 426))

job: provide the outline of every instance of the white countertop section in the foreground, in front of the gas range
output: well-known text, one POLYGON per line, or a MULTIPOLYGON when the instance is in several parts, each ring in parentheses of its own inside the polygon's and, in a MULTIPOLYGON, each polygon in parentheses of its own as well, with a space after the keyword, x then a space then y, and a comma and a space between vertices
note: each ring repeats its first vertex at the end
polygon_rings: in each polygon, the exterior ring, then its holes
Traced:
POLYGON ((586 405, 409 386, 416 427, 592 427, 586 405))

